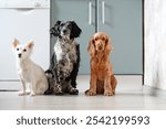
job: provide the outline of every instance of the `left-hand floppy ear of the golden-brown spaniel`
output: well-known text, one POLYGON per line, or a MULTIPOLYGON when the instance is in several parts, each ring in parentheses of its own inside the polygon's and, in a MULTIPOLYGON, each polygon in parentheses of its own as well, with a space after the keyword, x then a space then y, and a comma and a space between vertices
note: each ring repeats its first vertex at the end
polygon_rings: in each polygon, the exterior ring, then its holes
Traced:
POLYGON ((87 52, 90 53, 91 56, 95 55, 95 41, 94 41, 93 36, 89 41, 87 52))

